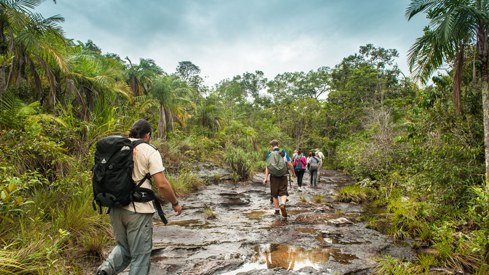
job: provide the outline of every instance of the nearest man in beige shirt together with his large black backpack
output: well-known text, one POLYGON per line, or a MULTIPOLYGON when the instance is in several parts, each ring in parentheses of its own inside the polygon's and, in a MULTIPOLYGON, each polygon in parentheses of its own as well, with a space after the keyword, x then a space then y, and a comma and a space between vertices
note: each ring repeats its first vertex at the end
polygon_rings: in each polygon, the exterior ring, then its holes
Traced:
MULTIPOLYGON (((153 246, 152 217, 155 212, 152 199, 156 196, 157 200, 157 195, 151 190, 151 177, 159 193, 172 204, 175 215, 181 213, 177 197, 163 173, 165 168, 161 156, 156 148, 149 144, 151 133, 150 123, 140 119, 131 128, 130 139, 126 139, 127 145, 121 147, 119 144, 124 138, 117 136, 104 138, 107 139, 104 140, 105 143, 97 142, 92 178, 94 201, 100 207, 107 206, 110 201, 113 202, 109 208, 109 215, 117 242, 107 260, 97 269, 97 275, 119 274, 129 264, 131 264, 130 275, 149 273, 153 246), (99 148, 101 144, 109 148, 99 148), (126 152, 129 154, 126 155, 126 152), (119 156, 122 158, 131 155, 132 159, 128 163, 117 159, 119 156), (121 167, 122 171, 119 170, 121 167), (112 174, 111 171, 119 172, 112 174), (132 190, 124 191, 118 187, 124 175, 131 175, 132 190), (120 180, 111 182, 118 176, 120 180), (129 192, 129 199, 126 196, 127 192, 129 192)), ((159 203, 155 201, 155 205, 161 219, 166 222, 159 203)))

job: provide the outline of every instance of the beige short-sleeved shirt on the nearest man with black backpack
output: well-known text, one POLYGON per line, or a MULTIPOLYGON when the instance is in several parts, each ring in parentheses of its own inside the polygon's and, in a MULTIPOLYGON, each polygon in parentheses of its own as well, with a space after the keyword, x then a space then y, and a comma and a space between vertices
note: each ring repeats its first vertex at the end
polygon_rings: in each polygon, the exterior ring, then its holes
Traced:
MULTIPOLYGON (((131 141, 137 140, 130 138, 131 141)), ((134 148, 133 152, 133 181, 138 184, 147 173, 154 175, 165 170, 161 155, 149 144, 142 143, 134 148)), ((149 180, 143 182, 141 187, 151 189, 149 180)), ((153 202, 134 202, 134 207, 138 213, 154 213, 153 202)), ((134 211, 133 204, 123 207, 126 210, 134 211)))

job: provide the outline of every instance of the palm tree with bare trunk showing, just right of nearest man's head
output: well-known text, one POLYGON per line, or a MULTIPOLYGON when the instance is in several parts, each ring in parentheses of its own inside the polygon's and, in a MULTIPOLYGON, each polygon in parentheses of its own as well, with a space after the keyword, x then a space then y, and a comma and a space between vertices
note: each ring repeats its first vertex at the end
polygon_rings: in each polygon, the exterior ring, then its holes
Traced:
POLYGON ((137 97, 136 101, 141 102, 142 109, 153 106, 159 108, 157 137, 162 138, 168 123, 172 131, 175 131, 174 119, 181 126, 185 125, 188 111, 195 108, 192 100, 196 93, 195 89, 188 87, 178 76, 162 75, 153 79, 149 95, 137 97))

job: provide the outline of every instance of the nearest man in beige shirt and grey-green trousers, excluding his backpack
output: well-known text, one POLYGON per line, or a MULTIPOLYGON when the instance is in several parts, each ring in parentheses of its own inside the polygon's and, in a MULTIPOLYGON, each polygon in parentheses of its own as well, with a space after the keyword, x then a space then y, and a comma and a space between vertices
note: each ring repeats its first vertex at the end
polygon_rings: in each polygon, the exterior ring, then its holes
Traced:
MULTIPOLYGON (((133 124, 129 139, 149 142, 152 128, 149 122, 140 119, 133 124)), ((155 147, 141 143, 133 149, 133 180, 138 183, 146 174, 153 176, 159 193, 167 199, 176 212, 181 213, 178 199, 168 183, 163 171, 161 155, 155 147)), ((150 180, 141 187, 151 189, 150 180)), ((97 269, 97 275, 119 274, 131 264, 130 275, 147 275, 150 269, 151 248, 153 246, 153 213, 151 201, 134 202, 124 207, 112 207, 109 213, 117 245, 97 269)))

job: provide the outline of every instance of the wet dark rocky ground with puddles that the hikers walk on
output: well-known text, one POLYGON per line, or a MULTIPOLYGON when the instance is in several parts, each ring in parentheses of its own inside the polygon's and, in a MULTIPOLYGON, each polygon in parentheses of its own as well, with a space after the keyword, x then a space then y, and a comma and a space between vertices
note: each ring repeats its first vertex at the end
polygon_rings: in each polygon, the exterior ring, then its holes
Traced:
MULTIPOLYGON (((208 169, 201 174, 213 176, 208 169)), ((335 190, 353 183, 349 177, 323 170, 318 187, 312 188, 308 176, 302 192, 295 180, 289 187, 287 218, 274 214, 263 173, 245 183, 209 185, 179 199, 184 208, 179 216, 166 206, 166 226, 154 217, 150 274, 360 275, 370 274, 379 254, 412 257, 408 244, 394 243, 357 222, 360 206, 333 203, 335 190), (314 203, 315 195, 323 195, 324 203, 314 203), (309 202, 301 202, 301 196, 309 202), (216 217, 208 219, 204 207, 216 217)))

